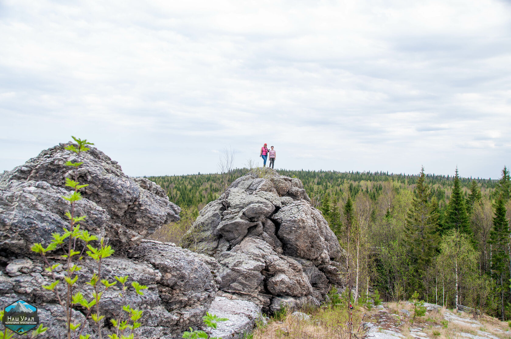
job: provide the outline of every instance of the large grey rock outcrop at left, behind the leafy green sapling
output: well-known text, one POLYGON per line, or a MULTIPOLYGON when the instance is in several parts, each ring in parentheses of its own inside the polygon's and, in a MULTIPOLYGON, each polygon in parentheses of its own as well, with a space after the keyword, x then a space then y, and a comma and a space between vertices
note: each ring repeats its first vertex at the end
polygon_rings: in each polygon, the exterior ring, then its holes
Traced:
MULTIPOLYGON (((219 279, 216 259, 158 241, 144 240, 165 223, 179 219, 179 207, 171 203, 155 183, 145 178, 129 178, 116 161, 96 148, 82 153, 80 159, 64 150, 63 144, 41 152, 24 165, 0 175, 0 305, 17 299, 39 309, 41 322, 49 327, 42 338, 64 338, 63 309, 55 294, 41 287, 52 281, 43 270, 40 257, 30 251, 33 243, 49 244, 53 232, 62 232, 69 209, 62 196, 68 193, 64 178, 73 177, 66 161, 83 161, 79 168, 84 199, 77 203, 80 215, 87 215, 82 229, 105 237, 115 253, 104 259, 102 278, 129 275, 147 285, 144 296, 130 287, 127 303, 144 311, 138 337, 171 338, 189 327, 202 324, 202 316, 213 302, 219 279)), ((62 263, 52 253, 50 263, 62 263)), ((91 294, 86 285, 96 268, 85 259, 80 265, 76 289, 91 294)), ((63 280, 62 268, 56 269, 63 280)), ((63 288, 63 286, 62 286, 63 288)), ((119 286, 104 294, 101 312, 105 317, 103 337, 110 334, 109 319, 118 314, 119 286)), ((90 300, 90 299, 89 299, 90 300)), ((84 309, 75 307, 77 322, 86 323, 82 334, 97 338, 96 326, 86 322, 84 309)))

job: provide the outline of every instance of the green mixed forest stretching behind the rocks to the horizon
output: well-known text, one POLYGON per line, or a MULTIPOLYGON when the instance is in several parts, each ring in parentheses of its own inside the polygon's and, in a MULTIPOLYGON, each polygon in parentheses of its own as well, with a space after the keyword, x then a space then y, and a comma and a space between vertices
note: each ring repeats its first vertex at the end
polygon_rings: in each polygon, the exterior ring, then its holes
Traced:
MULTIPOLYGON (((248 169, 229 173, 229 182, 248 169)), ((349 253, 355 299, 386 301, 414 292, 430 303, 511 316, 511 182, 384 172, 280 170, 299 178, 349 253), (347 230, 350 230, 348 233, 347 230), (349 244, 348 244, 349 243, 349 244)), ((221 193, 220 174, 148 177, 181 208, 184 234, 221 193)), ((179 235, 181 236, 181 235, 179 235)), ((174 238, 173 238, 174 239, 174 238)))

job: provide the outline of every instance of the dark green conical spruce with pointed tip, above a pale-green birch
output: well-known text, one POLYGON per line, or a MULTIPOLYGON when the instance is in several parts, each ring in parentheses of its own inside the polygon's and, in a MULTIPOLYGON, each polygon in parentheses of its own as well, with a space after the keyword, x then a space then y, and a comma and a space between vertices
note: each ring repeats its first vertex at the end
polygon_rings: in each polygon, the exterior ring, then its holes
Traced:
POLYGON ((472 229, 470 228, 469 215, 467 214, 465 200, 461 191, 458 167, 456 167, 451 199, 447 206, 447 214, 444 223, 444 232, 450 229, 455 229, 458 232, 467 234, 469 238, 472 239, 472 229))

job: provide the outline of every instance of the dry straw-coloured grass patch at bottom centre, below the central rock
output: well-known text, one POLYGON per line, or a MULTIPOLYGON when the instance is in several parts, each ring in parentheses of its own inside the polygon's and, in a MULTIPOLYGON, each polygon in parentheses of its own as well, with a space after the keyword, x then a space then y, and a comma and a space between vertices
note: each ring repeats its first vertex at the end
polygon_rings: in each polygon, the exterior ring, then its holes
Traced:
MULTIPOLYGON (((349 337, 345 307, 320 307, 308 309, 308 311, 310 320, 301 320, 291 316, 292 310, 286 310, 281 317, 270 319, 265 326, 258 326, 249 337, 252 339, 346 339, 349 337), (278 320, 279 318, 281 321, 278 320)), ((360 320, 360 310, 354 310, 354 331, 357 331, 360 320)))

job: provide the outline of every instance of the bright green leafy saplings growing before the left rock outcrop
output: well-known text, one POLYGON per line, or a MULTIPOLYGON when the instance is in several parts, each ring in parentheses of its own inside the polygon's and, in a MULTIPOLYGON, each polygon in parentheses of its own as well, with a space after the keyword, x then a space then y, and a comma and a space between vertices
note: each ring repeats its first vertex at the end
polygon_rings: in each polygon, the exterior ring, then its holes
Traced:
MULTIPOLYGON (((87 140, 81 140, 75 137, 73 137, 73 139, 77 142, 77 144, 66 146, 65 149, 75 152, 77 158, 80 157, 82 152, 89 150, 87 145, 93 144, 87 140)), ((122 299, 122 309, 119 310, 119 315, 116 319, 110 320, 114 330, 116 330, 116 333, 110 334, 109 337, 110 339, 134 339, 135 334, 133 333, 133 330, 142 325, 140 322, 137 322, 137 320, 142 317, 142 311, 133 309, 131 306, 125 304, 125 293, 127 289, 126 282, 128 280, 128 276, 115 277, 117 281, 101 279, 102 261, 104 258, 111 256, 114 253, 114 250, 110 245, 105 244, 104 238, 99 239, 98 243, 98 237, 96 235, 91 235, 88 231, 82 230, 80 222, 85 222, 86 216, 76 215, 75 204, 82 199, 79 190, 87 186, 87 184, 82 185, 78 181, 78 169, 82 164, 83 161, 67 161, 65 163, 65 165, 73 167, 73 171, 71 173, 74 175, 73 179, 65 178, 65 186, 72 188, 72 191, 67 196, 63 197, 69 202, 69 211, 65 213, 69 219, 69 226, 63 229, 63 233, 53 233, 53 240, 47 247, 42 246, 42 244, 33 244, 31 247, 32 251, 41 255, 47 266, 45 270, 50 272, 53 277, 52 282, 44 284, 42 287, 53 291, 59 304, 64 308, 67 338, 71 339, 72 336, 78 336, 80 339, 88 339, 90 335, 82 335, 81 333, 84 327, 81 323, 77 323, 76 319, 72 317, 73 307, 75 305, 80 305, 85 308, 87 310, 85 319, 90 317, 90 319, 96 322, 98 327, 97 331, 98 333, 101 333, 101 329, 103 327, 102 320, 105 318, 104 315, 100 314, 99 306, 101 298, 108 288, 116 285, 118 282, 121 283, 122 288, 119 297, 122 299), (97 243, 96 246, 94 243, 97 243), (63 252, 60 257, 65 260, 65 264, 63 265, 65 268, 63 271, 64 284, 66 285, 65 288, 59 288, 61 281, 56 279, 55 275, 55 270, 60 263, 50 264, 47 257, 48 252, 57 249, 63 252), (80 290, 73 288, 79 279, 77 272, 81 270, 81 267, 77 263, 83 260, 84 252, 89 258, 97 263, 97 271, 92 274, 89 281, 85 282, 94 289, 88 296, 83 295, 80 290), (74 294, 72 294, 73 291, 74 294), (124 331, 129 331, 130 333, 125 335, 124 331)), ((136 281, 133 281, 131 286, 134 288, 137 295, 143 295, 144 293, 142 290, 147 288, 147 286, 140 285, 136 281)), ((33 331, 33 335, 40 334, 44 331, 45 328, 41 325, 38 329, 33 331)))

